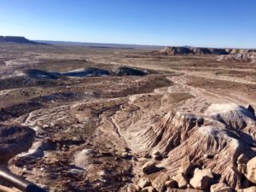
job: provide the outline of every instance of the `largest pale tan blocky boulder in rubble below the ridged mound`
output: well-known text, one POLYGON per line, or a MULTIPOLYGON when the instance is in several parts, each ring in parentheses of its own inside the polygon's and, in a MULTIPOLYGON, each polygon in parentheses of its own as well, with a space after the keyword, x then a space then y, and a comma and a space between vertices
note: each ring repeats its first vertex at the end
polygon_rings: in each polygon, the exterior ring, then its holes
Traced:
POLYGON ((207 189, 212 182, 213 175, 210 169, 195 169, 194 177, 190 180, 190 184, 194 189, 207 189))

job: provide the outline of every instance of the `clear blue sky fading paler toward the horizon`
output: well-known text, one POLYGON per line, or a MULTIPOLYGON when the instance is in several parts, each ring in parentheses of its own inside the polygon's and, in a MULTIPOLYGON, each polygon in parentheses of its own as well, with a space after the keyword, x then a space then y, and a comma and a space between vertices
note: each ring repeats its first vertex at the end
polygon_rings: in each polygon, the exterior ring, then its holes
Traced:
POLYGON ((256 0, 0 0, 0 35, 256 48, 256 0))

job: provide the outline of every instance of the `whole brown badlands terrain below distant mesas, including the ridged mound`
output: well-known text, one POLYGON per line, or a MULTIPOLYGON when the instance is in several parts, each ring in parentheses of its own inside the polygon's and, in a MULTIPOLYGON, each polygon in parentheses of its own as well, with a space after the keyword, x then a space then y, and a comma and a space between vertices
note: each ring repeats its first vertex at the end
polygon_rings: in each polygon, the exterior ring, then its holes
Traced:
POLYGON ((1 49, 0 160, 12 172, 49 191, 255 190, 253 63, 1 49))

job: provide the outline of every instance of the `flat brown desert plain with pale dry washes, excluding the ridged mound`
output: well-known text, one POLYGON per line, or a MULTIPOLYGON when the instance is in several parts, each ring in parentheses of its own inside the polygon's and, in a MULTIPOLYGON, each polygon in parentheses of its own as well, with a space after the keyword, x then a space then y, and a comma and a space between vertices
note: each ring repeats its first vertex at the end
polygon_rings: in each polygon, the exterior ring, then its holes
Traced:
MULTIPOLYGON (((142 132, 166 114, 203 116, 214 103, 256 107, 253 63, 217 61, 216 55, 147 53, 0 44, 0 124, 36 131, 32 148, 9 160, 9 169, 49 191, 125 191, 127 184, 145 177, 142 166, 152 158, 145 143, 153 138, 141 138, 142 132), (28 69, 61 73, 124 66, 150 73, 60 79, 26 74, 28 69)), ((154 179, 168 170, 169 152, 161 151, 162 167, 146 177, 154 179)))

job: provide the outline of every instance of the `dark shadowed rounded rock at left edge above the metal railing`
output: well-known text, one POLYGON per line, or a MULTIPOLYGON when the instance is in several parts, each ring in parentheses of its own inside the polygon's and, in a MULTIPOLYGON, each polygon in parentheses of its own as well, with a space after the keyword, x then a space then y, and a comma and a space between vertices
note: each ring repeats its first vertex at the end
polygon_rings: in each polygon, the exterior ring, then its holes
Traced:
POLYGON ((0 164, 31 148, 34 137, 35 131, 27 126, 0 125, 0 164))

